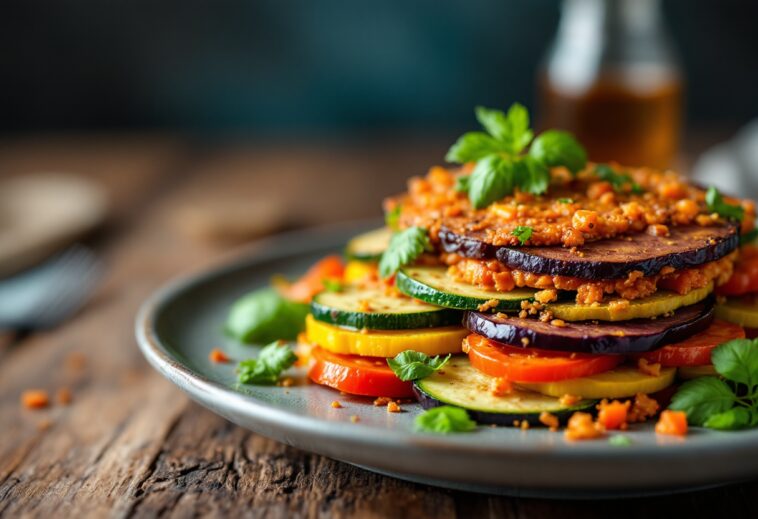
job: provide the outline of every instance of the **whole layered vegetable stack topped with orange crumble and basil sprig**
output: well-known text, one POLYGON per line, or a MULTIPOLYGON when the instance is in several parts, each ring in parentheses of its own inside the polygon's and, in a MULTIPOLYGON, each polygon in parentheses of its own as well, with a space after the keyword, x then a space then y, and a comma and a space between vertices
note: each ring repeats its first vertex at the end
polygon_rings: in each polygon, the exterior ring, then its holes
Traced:
POLYGON ((387 200, 388 228, 355 238, 344 282, 314 297, 312 380, 482 423, 554 426, 598 404, 626 423, 758 329, 758 249, 737 269, 750 282, 732 277, 752 203, 588 163, 569 134, 533 138, 518 105, 477 116, 486 132, 448 153, 460 167, 387 200), (714 290, 734 296, 719 319, 714 290))

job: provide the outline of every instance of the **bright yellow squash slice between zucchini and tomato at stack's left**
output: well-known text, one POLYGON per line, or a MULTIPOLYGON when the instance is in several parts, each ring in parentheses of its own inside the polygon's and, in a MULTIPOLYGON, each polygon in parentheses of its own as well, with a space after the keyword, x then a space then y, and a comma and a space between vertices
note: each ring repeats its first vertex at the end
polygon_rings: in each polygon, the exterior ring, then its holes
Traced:
POLYGON ((308 342, 334 353, 368 357, 394 357, 405 350, 427 355, 459 353, 469 331, 460 326, 419 330, 356 331, 322 323, 308 316, 305 320, 308 342))

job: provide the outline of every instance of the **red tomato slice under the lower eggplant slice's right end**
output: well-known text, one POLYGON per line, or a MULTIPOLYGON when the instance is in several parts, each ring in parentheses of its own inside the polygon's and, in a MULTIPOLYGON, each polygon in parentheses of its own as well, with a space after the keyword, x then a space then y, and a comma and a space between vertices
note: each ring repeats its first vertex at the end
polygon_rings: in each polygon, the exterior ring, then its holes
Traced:
POLYGON ((715 320, 704 332, 682 342, 669 344, 655 351, 639 355, 648 362, 661 366, 705 366, 711 363, 711 350, 732 339, 745 337, 745 330, 738 324, 715 320))

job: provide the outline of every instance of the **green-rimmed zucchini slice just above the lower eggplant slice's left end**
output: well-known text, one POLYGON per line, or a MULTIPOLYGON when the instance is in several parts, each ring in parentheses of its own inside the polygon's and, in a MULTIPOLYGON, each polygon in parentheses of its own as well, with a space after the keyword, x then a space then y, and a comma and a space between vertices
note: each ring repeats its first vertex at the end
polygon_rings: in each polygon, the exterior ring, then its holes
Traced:
POLYGON ((432 305, 459 310, 478 310, 480 305, 496 299, 492 311, 521 309, 521 301, 531 301, 536 290, 517 288, 510 292, 492 292, 461 283, 447 274, 445 267, 406 267, 397 273, 397 288, 404 294, 432 305))

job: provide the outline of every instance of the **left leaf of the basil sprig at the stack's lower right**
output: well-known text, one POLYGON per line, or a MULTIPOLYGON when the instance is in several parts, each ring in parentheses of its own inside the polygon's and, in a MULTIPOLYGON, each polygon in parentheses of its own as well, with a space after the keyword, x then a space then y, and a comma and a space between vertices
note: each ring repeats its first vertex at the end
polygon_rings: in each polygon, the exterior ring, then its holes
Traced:
POLYGON ((731 409, 735 400, 726 382, 717 377, 701 377, 682 384, 669 409, 684 411, 691 424, 703 425, 711 415, 731 409))

